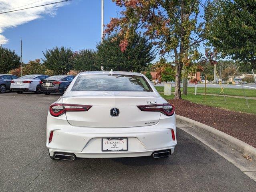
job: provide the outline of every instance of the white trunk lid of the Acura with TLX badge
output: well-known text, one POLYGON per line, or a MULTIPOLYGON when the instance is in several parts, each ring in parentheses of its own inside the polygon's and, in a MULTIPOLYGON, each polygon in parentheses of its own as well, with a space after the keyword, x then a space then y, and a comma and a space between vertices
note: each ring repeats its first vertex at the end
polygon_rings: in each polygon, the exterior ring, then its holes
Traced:
POLYGON ((71 125, 118 128, 157 124, 160 112, 143 112, 137 106, 163 104, 163 98, 155 92, 69 92, 63 103, 92 106, 85 112, 67 112, 71 125), (118 116, 111 111, 113 108, 118 116))

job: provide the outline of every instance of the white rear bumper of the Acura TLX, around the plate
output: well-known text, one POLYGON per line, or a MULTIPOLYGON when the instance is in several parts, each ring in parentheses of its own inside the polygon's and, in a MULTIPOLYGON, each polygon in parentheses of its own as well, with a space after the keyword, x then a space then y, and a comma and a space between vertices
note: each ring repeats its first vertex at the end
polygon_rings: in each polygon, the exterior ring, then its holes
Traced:
POLYGON ((46 147, 50 156, 54 156, 54 152, 73 153, 78 158, 150 156, 159 150, 171 150, 173 153, 177 144, 175 121, 167 128, 157 124, 130 128, 89 128, 62 123, 48 126, 48 124, 49 121, 47 121, 46 147), (52 141, 49 143, 52 130, 52 141), (171 130, 175 132, 175 140, 172 139, 171 130), (102 138, 105 137, 127 137, 128 150, 103 152, 102 138))

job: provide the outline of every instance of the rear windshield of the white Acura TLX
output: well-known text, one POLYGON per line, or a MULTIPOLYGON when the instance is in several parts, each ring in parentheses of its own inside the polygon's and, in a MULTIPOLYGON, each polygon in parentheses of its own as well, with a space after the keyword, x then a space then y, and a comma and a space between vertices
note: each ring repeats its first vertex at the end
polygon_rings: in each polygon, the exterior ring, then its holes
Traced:
POLYGON ((71 91, 153 91, 142 76, 80 75, 71 91))

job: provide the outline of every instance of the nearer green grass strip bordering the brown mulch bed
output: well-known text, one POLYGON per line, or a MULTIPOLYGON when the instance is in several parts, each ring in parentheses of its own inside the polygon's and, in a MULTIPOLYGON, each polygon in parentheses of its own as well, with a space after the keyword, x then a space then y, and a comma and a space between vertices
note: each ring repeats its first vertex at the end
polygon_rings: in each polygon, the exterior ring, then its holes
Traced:
MULTIPOLYGON (((165 96, 164 94, 161 94, 161 96, 166 100, 173 99, 173 95, 165 96)), ((227 104, 225 102, 224 97, 220 97, 220 96, 208 95, 206 96, 206 100, 204 100, 204 95, 187 94, 187 95, 182 95, 182 98, 198 104, 220 107, 220 108, 224 108, 231 111, 256 114, 256 100, 252 100, 252 99, 248 99, 248 104, 250 107, 250 109, 248 109, 246 100, 240 99, 240 98, 226 97, 227 104)))

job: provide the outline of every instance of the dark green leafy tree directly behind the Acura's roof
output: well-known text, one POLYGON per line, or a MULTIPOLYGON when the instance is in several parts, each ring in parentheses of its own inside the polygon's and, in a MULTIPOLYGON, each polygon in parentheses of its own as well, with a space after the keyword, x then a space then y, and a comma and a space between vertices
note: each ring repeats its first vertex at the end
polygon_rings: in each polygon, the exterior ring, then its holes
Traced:
POLYGON ((144 36, 134 34, 123 51, 120 44, 121 38, 117 34, 97 44, 98 64, 107 70, 141 72, 155 58, 153 44, 144 36))

